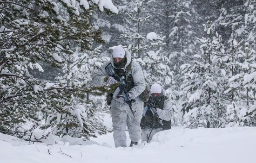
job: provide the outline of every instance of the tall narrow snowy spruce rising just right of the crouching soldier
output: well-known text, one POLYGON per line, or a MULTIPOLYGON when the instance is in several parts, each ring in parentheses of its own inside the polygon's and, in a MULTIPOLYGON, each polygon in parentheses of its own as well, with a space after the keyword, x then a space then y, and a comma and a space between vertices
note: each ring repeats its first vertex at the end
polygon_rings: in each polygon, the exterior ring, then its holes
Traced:
MULTIPOLYGON (((192 0, 176 0, 168 2, 170 7, 169 12, 169 67, 173 71, 173 80, 167 92, 173 101, 175 113, 174 122, 176 125, 182 123, 182 103, 184 102, 184 93, 182 91, 182 81, 184 80, 181 73, 181 65, 190 63, 193 60, 193 54, 199 52, 196 46, 196 38, 202 35, 200 28, 201 17, 195 12, 195 2, 192 0), (188 39, 189 38, 189 39, 188 39)), ((167 9, 165 9, 167 13, 167 9)), ((165 15, 167 16, 167 15, 165 15)), ((167 18, 165 20, 168 20, 167 18)), ((167 22, 166 22, 167 23, 167 22)))

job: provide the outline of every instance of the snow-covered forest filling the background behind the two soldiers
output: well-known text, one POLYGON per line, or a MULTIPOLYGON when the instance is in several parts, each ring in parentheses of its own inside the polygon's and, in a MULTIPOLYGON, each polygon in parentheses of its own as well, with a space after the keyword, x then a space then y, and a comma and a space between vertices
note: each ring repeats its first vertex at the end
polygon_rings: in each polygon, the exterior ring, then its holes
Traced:
POLYGON ((90 81, 117 45, 165 89, 173 125, 256 125, 255 0, 1 0, 0 11, 2 133, 108 132, 109 89, 90 81))

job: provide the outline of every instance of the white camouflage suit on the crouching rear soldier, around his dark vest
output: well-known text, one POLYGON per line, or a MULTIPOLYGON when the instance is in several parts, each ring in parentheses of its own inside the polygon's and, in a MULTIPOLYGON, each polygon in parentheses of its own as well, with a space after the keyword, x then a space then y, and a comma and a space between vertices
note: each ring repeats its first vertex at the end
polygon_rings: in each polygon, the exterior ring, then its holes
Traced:
MULTIPOLYGON (((162 89, 162 94, 164 94, 164 89, 162 89)), ((156 112, 159 115, 160 119, 167 120, 167 121, 171 120, 171 118, 173 116, 171 101, 169 99, 164 100, 163 109, 156 108, 156 112)), ((152 137, 155 135, 155 133, 160 132, 163 129, 162 128, 153 128, 152 132, 151 132, 151 130, 152 130, 152 128, 150 128, 150 127, 146 127, 142 130, 141 142, 148 141, 148 143, 149 143, 152 140, 152 137), (150 132, 151 132, 151 134, 149 136, 150 132), (148 138, 148 136, 149 136, 149 138, 148 138)))

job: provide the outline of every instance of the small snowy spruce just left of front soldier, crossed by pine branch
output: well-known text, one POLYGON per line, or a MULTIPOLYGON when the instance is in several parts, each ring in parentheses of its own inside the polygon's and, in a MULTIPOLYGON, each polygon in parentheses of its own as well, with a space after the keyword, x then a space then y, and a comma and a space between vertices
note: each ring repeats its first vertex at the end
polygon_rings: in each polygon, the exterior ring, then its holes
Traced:
MULTIPOLYGON (((73 56, 68 57, 64 75, 58 77, 60 84, 72 89, 91 87, 91 74, 101 66, 102 62, 109 60, 108 57, 98 57, 100 48, 101 46, 96 47, 86 53, 76 50, 73 56)), ((106 133, 100 116, 103 109, 107 108, 105 97, 89 96, 89 94, 88 91, 70 91, 61 95, 68 97, 65 100, 51 99, 52 102, 48 105, 50 113, 47 116, 47 123, 42 128, 51 127, 53 133, 60 137, 69 135, 84 139, 95 137, 96 132, 106 133)))

